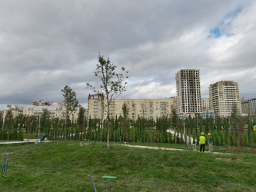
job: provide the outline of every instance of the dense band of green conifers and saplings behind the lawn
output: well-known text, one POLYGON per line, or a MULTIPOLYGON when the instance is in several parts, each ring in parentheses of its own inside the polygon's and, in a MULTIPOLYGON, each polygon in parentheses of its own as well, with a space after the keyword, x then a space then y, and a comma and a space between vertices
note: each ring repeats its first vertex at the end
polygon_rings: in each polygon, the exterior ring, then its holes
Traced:
POLYGON ((1 140, 23 140, 25 137, 38 137, 38 133, 48 134, 52 140, 75 141, 107 141, 107 124, 109 123, 109 140, 115 142, 161 142, 184 144, 185 134, 193 140, 198 140, 201 132, 211 133, 214 146, 224 147, 254 147, 256 145, 255 118, 241 117, 236 108, 229 118, 191 118, 179 119, 176 111, 171 116, 145 119, 138 116, 137 120, 128 119, 127 105, 123 105, 123 115, 104 119, 93 119, 85 116, 85 108, 80 107, 78 120, 71 121, 50 118, 49 111, 44 109, 40 120, 38 117, 25 117, 19 114, 13 118, 12 111, 8 111, 3 121, 0 116, 1 140), (168 130, 175 131, 171 134, 168 130), (66 131, 66 133, 65 133, 66 131), (29 134, 32 134, 30 136, 29 134))

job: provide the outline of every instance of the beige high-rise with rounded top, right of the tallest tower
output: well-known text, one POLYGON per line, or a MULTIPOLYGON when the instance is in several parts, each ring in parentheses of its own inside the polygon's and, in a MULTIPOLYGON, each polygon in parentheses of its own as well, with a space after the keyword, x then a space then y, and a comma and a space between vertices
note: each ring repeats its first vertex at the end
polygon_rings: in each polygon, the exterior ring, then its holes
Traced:
POLYGON ((241 103, 238 83, 234 81, 218 81, 209 87, 210 106, 214 109, 215 116, 231 116, 232 107, 237 105, 241 113, 241 103))

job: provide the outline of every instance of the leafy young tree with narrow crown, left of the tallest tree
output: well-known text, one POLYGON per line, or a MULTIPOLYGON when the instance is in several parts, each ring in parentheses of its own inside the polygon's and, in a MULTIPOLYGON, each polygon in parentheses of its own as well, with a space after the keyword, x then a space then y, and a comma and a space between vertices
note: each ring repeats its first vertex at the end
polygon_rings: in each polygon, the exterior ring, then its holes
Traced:
POLYGON ((62 96, 64 98, 63 104, 65 107, 65 141, 67 140, 67 121, 70 118, 70 114, 78 107, 78 99, 76 93, 68 85, 62 89, 62 96))

